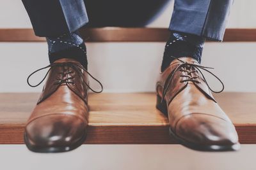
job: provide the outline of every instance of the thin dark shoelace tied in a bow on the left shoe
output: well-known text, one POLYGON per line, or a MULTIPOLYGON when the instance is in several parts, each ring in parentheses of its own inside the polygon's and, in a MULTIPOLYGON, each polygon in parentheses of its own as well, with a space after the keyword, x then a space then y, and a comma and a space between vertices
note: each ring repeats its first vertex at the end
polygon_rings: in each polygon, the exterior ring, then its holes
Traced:
POLYGON ((40 68, 40 69, 37 69, 37 70, 34 71, 33 73, 29 74, 28 79, 27 79, 28 85, 29 85, 30 87, 38 87, 38 85, 40 85, 40 84, 45 80, 45 78, 47 77, 47 75, 49 74, 49 72, 51 71, 51 69, 52 69, 53 67, 56 67, 56 66, 61 66, 61 67, 63 67, 63 72, 60 72, 60 74, 63 75, 63 76, 62 76, 63 78, 56 78, 57 81, 54 83, 55 85, 61 85, 62 83, 71 83, 71 84, 74 84, 73 81, 70 81, 70 80, 73 79, 73 77, 67 78, 67 76, 66 76, 66 75, 69 74, 69 73, 73 73, 73 71, 67 71, 67 72, 65 72, 65 69, 64 69, 65 67, 71 67, 71 68, 74 69, 77 73, 79 73, 79 76, 81 76, 82 79, 83 79, 83 83, 86 84, 86 86, 87 86, 90 90, 92 90, 92 92, 100 93, 100 92, 103 91, 103 85, 102 85, 102 83, 100 83, 99 80, 97 80, 95 77, 92 76, 92 74, 90 74, 86 69, 84 69, 83 66, 80 66, 79 64, 76 64, 76 63, 74 63, 74 62, 53 63, 53 64, 49 64, 49 65, 46 66, 46 67, 42 67, 42 68, 40 68), (77 68, 77 67, 78 67, 78 68, 77 68), (35 74, 35 73, 37 73, 38 71, 41 71, 41 70, 43 70, 43 69, 47 69, 47 68, 50 68, 50 69, 47 71, 47 73, 45 74, 44 78, 43 78, 38 84, 36 84, 36 85, 31 85, 31 83, 29 83, 29 78, 31 78, 31 76, 33 76, 33 74, 35 74), (101 90, 99 90, 99 91, 93 90, 93 89, 90 87, 90 85, 88 85, 88 83, 86 83, 86 81, 84 80, 83 73, 81 72, 80 69, 83 69, 83 71, 85 71, 91 78, 93 78, 93 80, 97 81, 97 83, 99 83, 99 85, 100 85, 101 90), (66 77, 66 78, 64 78, 64 77, 66 77))

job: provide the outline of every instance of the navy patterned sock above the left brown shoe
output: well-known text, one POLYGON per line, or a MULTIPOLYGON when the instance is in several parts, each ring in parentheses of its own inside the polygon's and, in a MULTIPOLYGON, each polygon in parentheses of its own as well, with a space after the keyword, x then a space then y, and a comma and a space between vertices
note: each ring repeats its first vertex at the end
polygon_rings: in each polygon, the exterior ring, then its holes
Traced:
POLYGON ((49 60, 74 59, 87 69, 86 46, 78 31, 63 34, 54 38, 46 38, 49 51, 49 60))

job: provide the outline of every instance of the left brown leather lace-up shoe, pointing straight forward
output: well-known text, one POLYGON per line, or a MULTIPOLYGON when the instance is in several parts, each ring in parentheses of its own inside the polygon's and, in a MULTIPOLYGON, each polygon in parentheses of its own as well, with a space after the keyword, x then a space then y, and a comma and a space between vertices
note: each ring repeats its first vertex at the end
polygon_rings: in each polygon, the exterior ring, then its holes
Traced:
MULTIPOLYGON (((60 59, 47 67, 50 67, 49 76, 26 124, 24 141, 33 152, 67 152, 86 139, 88 91, 91 89, 88 75, 91 74, 72 59, 60 59)), ((31 75, 28 77, 31 87, 44 81, 31 85, 31 75)))

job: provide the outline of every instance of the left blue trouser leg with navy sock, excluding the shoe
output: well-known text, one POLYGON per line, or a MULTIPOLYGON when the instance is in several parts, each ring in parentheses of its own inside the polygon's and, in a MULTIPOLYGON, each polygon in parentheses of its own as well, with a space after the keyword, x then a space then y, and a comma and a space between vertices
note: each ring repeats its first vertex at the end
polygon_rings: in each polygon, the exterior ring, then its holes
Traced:
POLYGON ((88 23, 83 0, 22 0, 36 36, 45 37, 51 63, 79 61, 87 69, 86 46, 78 29, 88 23))

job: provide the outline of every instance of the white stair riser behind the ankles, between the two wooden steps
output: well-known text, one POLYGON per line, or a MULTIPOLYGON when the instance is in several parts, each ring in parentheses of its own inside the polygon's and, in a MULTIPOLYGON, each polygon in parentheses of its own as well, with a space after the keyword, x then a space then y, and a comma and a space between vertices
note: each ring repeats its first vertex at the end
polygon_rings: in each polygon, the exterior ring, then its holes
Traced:
MULTIPOLYGON (((104 92, 148 92, 155 82, 164 43, 87 43, 89 71, 104 85, 104 92), (98 50, 100 49, 100 50, 98 50)), ((225 83, 226 91, 256 92, 256 43, 206 43, 202 64, 225 83)), ((46 43, 0 43, 0 92, 40 92, 28 87, 28 74, 47 66, 46 43), (3 74, 8 73, 8 74, 3 74)), ((36 74, 36 83, 43 78, 36 74)), ((211 76, 207 76, 209 80, 211 76)), ((218 89, 218 81, 209 81, 218 89)), ((95 84, 93 84, 95 85, 95 84)))

